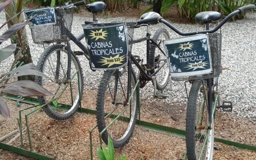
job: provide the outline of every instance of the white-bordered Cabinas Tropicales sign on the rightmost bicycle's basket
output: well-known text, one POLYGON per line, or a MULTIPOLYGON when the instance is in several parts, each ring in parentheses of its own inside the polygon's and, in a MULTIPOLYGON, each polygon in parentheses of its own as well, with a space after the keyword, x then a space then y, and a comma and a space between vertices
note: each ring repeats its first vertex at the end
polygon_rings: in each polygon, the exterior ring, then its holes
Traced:
POLYGON ((172 77, 197 76, 212 72, 208 35, 164 41, 172 77))

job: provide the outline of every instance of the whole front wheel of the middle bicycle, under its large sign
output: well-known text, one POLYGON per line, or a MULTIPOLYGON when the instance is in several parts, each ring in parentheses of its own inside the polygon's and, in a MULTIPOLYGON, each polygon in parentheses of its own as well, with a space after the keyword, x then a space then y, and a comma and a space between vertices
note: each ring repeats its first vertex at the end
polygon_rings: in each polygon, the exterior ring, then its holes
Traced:
MULTIPOLYGON (((130 68, 132 69, 132 68, 130 68)), ((97 124, 101 132, 110 122, 120 115, 120 117, 102 134, 102 140, 108 144, 108 136, 113 141, 115 148, 124 146, 130 139, 134 130, 138 114, 138 89, 132 94, 136 86, 136 76, 133 70, 131 75, 130 92, 128 91, 128 68, 106 71, 100 81, 97 94, 97 124), (129 93, 128 93, 129 92, 129 93), (130 103, 127 93, 131 97, 130 103), (104 117, 107 116, 108 117, 104 117)))

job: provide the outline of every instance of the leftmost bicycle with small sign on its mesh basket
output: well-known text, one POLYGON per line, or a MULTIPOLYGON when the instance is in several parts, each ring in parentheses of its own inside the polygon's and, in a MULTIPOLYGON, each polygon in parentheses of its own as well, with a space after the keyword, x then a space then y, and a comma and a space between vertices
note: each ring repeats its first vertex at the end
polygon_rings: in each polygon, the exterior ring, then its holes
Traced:
MULTIPOLYGON (((84 55, 87 60, 90 58, 88 49, 80 42, 84 38, 84 32, 77 37, 71 32, 74 8, 81 5, 86 5, 86 2, 80 1, 72 4, 69 1, 64 6, 57 6, 54 9, 46 7, 26 11, 27 16, 31 17, 32 20, 37 18, 36 21, 32 21, 34 26, 30 26, 34 43, 53 43, 44 50, 37 64, 39 71, 47 77, 38 76, 36 82, 54 93, 55 96, 53 97, 41 96, 38 97, 38 100, 42 105, 49 103, 43 110, 49 117, 56 120, 65 120, 71 117, 81 105, 84 78, 77 56, 84 55), (44 19, 48 19, 48 21, 41 22, 44 19), (82 51, 73 52, 70 47, 70 40, 82 51), (57 99, 54 100, 54 98, 57 99)), ((102 12, 104 8, 104 2, 87 4, 86 9, 92 12, 93 21, 85 21, 84 23, 98 23, 96 13, 102 12)))

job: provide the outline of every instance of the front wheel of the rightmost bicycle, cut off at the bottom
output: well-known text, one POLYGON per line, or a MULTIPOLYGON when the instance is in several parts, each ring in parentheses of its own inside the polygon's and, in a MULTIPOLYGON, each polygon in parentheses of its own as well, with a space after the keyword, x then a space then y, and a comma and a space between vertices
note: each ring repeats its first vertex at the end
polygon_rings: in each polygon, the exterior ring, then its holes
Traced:
MULTIPOLYGON (((188 160, 212 160, 214 147, 214 120, 209 123, 207 85, 192 83, 186 114, 186 149, 188 160), (211 128, 210 128, 211 126, 211 128)), ((212 111, 214 112, 214 111, 212 111)))

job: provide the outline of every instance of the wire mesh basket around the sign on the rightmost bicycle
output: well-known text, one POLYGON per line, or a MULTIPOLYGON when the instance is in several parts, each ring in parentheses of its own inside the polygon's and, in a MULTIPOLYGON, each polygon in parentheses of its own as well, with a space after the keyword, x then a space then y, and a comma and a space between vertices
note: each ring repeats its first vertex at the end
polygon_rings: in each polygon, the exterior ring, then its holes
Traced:
POLYGON ((214 78, 220 75, 222 34, 221 33, 208 34, 208 37, 209 37, 211 58, 212 58, 212 72, 210 74, 201 74, 197 76, 171 77, 172 80, 174 81, 203 80, 208 78, 214 78))

